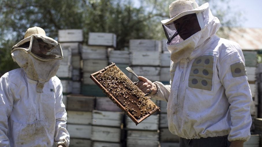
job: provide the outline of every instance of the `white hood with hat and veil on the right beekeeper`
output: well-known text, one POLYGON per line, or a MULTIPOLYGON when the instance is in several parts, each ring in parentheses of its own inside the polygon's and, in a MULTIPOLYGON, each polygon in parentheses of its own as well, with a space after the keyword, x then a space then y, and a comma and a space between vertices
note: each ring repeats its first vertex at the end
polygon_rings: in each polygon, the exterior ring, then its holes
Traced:
POLYGON ((162 20, 161 23, 168 39, 167 49, 174 63, 199 56, 201 49, 198 50, 197 47, 215 35, 220 26, 218 18, 212 15, 208 3, 198 6, 195 0, 177 0, 169 5, 169 13, 170 19, 162 20), (183 40, 173 22, 188 14, 196 14, 201 30, 183 40))

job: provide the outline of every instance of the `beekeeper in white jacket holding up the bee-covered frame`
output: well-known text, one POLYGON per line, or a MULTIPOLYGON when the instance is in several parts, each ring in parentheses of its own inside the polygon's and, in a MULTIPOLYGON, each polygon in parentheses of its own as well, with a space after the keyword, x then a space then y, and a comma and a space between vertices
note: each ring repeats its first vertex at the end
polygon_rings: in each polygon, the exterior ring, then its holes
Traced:
POLYGON ((180 147, 243 147, 252 96, 240 46, 215 35, 220 22, 195 0, 177 0, 162 20, 171 53, 170 85, 144 77, 137 86, 167 101, 168 127, 180 147))

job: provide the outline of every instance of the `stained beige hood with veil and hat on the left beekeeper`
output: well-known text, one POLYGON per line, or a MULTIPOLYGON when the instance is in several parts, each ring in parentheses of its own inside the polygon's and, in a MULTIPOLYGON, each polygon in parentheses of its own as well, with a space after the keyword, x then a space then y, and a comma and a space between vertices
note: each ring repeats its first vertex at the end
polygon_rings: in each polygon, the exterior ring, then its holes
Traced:
POLYGON ((56 75, 63 59, 60 44, 47 37, 40 27, 27 29, 24 39, 13 46, 11 55, 29 79, 38 81, 37 92, 43 92, 44 83, 56 75))

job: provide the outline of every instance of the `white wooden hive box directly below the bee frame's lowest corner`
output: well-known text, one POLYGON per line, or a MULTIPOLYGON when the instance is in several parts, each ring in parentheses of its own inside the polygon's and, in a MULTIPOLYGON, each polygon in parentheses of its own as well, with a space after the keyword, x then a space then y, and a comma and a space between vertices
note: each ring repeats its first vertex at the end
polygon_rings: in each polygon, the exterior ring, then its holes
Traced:
POLYGON ((128 130, 158 130, 158 125, 159 125, 159 114, 157 115, 151 115, 144 121, 142 121, 140 124, 135 125, 133 121, 129 118, 126 117, 126 128, 128 130))

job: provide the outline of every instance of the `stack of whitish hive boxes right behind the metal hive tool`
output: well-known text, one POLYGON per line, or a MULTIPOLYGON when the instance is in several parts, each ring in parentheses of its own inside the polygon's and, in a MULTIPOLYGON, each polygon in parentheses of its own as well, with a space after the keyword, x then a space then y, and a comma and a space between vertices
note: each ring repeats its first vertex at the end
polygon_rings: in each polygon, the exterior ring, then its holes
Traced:
MULTIPOLYGON (((138 76, 144 76, 153 82, 160 80, 160 41, 131 39, 129 51, 131 68, 138 76)), ((138 80, 132 74, 129 77, 133 82, 138 80)))

